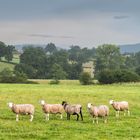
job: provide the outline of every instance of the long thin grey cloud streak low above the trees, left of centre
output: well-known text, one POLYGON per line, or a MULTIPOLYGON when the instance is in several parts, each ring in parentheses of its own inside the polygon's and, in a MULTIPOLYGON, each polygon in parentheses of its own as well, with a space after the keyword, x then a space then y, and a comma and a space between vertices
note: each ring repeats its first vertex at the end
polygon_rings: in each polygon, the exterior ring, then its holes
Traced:
POLYGON ((58 36, 58 35, 47 35, 47 34, 29 34, 31 37, 41 37, 41 38, 65 38, 65 39, 72 39, 75 38, 74 36, 58 36))

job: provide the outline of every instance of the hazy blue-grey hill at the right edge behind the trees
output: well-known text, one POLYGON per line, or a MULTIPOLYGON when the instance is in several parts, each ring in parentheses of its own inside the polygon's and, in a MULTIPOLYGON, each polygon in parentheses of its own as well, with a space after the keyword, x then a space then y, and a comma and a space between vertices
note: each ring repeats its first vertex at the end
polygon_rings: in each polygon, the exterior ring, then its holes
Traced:
POLYGON ((140 43, 119 45, 121 53, 136 53, 140 51, 140 43))

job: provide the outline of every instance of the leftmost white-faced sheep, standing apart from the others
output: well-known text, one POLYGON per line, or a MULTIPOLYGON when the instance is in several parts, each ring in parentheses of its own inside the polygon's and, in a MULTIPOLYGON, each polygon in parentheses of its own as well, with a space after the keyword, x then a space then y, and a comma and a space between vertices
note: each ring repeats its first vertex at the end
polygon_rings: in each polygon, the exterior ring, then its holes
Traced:
POLYGON ((33 121, 35 108, 32 104, 14 104, 12 102, 8 103, 13 113, 16 114, 16 121, 19 121, 19 114, 30 115, 30 122, 33 121))

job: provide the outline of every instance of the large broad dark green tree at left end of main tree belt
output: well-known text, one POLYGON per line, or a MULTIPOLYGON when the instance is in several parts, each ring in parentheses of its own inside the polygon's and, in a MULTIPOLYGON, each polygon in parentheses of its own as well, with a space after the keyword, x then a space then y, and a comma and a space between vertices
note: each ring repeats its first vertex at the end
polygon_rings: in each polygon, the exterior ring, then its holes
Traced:
MULTIPOLYGON (((35 78, 45 78, 46 74, 46 54, 41 47, 26 47, 20 56, 20 63, 30 66, 30 70, 36 73, 35 78)), ((29 70, 28 69, 28 70, 29 70)), ((29 71, 30 71, 29 70, 29 71)), ((29 75, 29 74, 27 74, 29 75)))

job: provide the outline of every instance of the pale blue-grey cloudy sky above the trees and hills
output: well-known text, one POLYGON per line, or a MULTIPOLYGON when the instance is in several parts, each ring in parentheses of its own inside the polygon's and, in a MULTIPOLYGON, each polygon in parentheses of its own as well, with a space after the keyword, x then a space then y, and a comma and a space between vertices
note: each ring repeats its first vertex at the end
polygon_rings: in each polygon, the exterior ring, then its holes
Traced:
POLYGON ((140 43, 140 0, 0 0, 6 44, 140 43))

